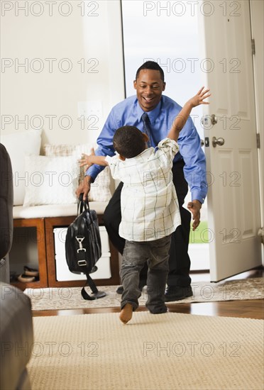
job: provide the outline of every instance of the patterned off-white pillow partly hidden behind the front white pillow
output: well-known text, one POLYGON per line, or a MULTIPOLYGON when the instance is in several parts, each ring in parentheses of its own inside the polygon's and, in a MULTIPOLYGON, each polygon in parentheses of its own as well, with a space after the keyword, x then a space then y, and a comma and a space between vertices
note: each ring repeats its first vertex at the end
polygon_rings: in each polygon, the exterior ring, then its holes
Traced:
MULTIPOLYGON (((92 147, 96 147, 91 143, 81 145, 44 145, 44 152, 47 156, 75 156, 76 160, 82 157, 82 153, 89 155, 92 151, 92 147)), ((84 178, 84 169, 80 170, 80 179, 84 178)), ((106 202, 111 199, 110 191, 110 169, 106 167, 94 180, 89 191, 89 201, 101 201, 106 202)))

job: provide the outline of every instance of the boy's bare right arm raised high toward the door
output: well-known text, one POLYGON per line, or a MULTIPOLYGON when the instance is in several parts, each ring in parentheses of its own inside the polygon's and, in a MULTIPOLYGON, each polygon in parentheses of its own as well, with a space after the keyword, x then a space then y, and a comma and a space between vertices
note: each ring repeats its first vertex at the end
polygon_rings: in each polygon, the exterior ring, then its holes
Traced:
POLYGON ((207 92, 209 92, 209 89, 204 90, 204 87, 202 87, 192 99, 189 99, 187 103, 185 103, 180 113, 176 116, 175 121, 172 123, 167 138, 177 141, 180 130, 185 126, 192 108, 199 106, 199 104, 209 104, 208 101, 204 101, 204 99, 211 96, 211 94, 208 94, 207 92))

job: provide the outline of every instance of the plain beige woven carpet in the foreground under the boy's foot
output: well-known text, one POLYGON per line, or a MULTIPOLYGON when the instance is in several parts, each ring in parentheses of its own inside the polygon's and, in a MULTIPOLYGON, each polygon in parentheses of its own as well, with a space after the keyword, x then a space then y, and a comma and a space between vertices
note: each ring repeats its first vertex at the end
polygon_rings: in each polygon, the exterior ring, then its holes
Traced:
POLYGON ((32 390, 263 389, 263 321, 136 312, 33 318, 32 390))

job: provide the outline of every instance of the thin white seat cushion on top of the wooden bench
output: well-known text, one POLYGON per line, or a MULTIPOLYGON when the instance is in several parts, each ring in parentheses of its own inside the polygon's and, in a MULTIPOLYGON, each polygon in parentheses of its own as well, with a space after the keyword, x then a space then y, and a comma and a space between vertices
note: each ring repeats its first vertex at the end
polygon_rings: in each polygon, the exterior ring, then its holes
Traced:
MULTIPOLYGON (((103 214, 108 202, 89 202, 92 210, 103 214)), ((77 204, 50 204, 43 206, 14 206, 13 218, 54 218, 77 215, 77 204)))

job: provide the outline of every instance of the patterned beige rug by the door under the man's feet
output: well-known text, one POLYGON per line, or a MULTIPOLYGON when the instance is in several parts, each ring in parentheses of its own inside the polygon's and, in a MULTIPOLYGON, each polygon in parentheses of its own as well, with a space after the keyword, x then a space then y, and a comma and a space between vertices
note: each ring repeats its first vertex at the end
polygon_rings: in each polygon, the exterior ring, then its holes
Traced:
MULTIPOLYGON (((264 278, 231 280, 227 282, 192 283, 193 296, 174 303, 236 301, 240 299, 263 299, 264 278)), ((101 286, 99 290, 106 291, 106 296, 94 301, 85 301, 81 296, 82 287, 62 287, 48 289, 26 289, 31 298, 33 310, 63 310, 74 308, 104 308, 119 307, 121 295, 116 294, 117 286, 101 286)), ((89 292, 89 289, 87 288, 89 292)), ((147 300, 146 289, 143 289, 140 306, 147 300)))

